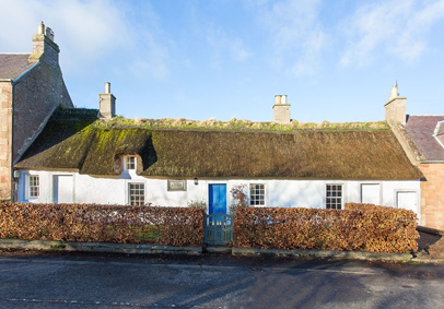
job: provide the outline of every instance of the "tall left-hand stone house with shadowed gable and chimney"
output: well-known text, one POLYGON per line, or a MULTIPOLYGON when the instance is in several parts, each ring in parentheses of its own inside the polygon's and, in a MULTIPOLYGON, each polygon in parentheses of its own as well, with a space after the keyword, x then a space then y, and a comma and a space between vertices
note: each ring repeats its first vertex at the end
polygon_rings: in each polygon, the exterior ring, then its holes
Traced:
POLYGON ((0 54, 0 200, 14 191, 12 166, 59 105, 73 107, 52 31, 42 22, 32 54, 0 54))

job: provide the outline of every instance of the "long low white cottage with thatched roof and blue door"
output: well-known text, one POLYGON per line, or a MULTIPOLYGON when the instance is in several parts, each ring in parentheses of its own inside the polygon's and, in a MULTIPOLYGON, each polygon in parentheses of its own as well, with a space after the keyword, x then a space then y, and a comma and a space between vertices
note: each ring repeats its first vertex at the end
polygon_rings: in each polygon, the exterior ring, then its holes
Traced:
POLYGON ((194 129, 166 129, 155 120, 114 117, 109 85, 101 96, 98 115, 112 119, 97 119, 91 109, 52 115, 14 166, 17 201, 187 206, 203 200, 213 213, 227 212, 230 190, 246 185, 254 206, 363 202, 421 213, 422 174, 388 126, 296 129, 290 105, 278 96, 279 121, 184 120, 194 129))

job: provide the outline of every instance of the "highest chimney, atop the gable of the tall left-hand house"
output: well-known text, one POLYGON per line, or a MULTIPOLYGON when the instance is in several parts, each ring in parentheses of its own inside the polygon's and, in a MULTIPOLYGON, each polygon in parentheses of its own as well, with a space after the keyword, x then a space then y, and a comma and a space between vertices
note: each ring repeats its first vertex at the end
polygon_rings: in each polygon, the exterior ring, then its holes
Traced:
POLYGON ((59 66, 59 46, 54 43, 54 32, 42 22, 38 24, 37 34, 33 35, 33 54, 30 62, 44 60, 52 67, 59 66))

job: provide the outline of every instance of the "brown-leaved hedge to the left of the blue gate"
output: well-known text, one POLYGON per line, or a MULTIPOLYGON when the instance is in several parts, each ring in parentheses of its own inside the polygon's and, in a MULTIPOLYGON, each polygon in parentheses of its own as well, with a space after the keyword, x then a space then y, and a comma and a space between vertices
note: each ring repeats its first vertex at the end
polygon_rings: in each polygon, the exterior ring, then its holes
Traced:
POLYGON ((202 246, 203 233, 199 209, 0 203, 0 238, 202 246))

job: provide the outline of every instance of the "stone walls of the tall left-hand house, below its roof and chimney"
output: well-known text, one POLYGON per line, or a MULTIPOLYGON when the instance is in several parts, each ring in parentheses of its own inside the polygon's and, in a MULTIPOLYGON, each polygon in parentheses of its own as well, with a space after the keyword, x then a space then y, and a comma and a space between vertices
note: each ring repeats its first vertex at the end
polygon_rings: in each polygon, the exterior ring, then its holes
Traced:
POLYGON ((54 108, 73 107, 59 66, 40 60, 20 80, 0 83, 0 200, 12 198, 12 165, 43 130, 54 108))

